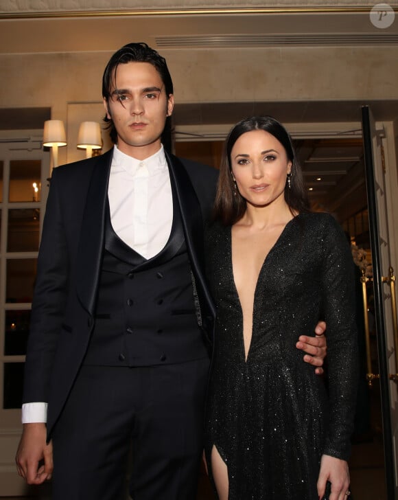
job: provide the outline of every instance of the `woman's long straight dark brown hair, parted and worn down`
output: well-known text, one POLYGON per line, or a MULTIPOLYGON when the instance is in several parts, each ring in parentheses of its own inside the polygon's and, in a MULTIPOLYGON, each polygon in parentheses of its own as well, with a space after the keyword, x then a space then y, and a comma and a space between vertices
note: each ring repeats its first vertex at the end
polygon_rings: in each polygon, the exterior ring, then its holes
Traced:
POLYGON ((223 225, 233 225, 246 212, 246 200, 239 192, 235 192, 231 173, 231 150, 237 139, 251 130, 265 130, 282 144, 288 160, 292 162, 291 188, 288 187, 286 179, 285 201, 292 213, 309 212, 309 201, 304 188, 303 173, 296 159, 292 139, 288 131, 272 116, 252 116, 244 118, 244 120, 233 126, 228 137, 226 137, 220 166, 220 177, 215 194, 213 219, 218 220, 223 225))

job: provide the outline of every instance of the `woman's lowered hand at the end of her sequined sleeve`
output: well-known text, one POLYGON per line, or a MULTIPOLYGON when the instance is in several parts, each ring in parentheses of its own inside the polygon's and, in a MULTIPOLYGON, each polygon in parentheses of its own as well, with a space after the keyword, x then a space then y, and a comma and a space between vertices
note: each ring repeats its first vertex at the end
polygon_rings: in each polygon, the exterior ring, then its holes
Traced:
POLYGON ((350 475, 348 464, 345 460, 322 455, 318 477, 318 495, 322 499, 325 495, 326 483, 331 483, 329 500, 349 500, 350 475))

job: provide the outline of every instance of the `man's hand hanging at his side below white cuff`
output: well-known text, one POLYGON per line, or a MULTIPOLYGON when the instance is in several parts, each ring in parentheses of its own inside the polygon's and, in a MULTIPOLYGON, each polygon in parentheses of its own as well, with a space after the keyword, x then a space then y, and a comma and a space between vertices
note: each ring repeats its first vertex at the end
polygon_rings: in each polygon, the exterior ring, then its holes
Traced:
POLYGON ((23 424, 15 462, 19 475, 27 484, 42 484, 46 479, 51 479, 53 448, 51 442, 47 444, 46 437, 45 424, 23 424))

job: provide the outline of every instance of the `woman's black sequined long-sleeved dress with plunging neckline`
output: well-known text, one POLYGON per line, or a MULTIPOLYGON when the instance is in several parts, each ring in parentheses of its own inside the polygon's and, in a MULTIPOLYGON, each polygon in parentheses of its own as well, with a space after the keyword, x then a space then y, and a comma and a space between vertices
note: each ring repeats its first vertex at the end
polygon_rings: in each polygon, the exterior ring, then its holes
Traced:
POLYGON ((328 214, 290 221, 259 273, 253 333, 244 358, 233 280, 231 227, 206 237, 207 277, 217 310, 205 451, 229 470, 229 500, 318 500, 323 453, 347 459, 357 390, 353 259, 328 214), (296 349, 327 321, 327 376, 296 349))

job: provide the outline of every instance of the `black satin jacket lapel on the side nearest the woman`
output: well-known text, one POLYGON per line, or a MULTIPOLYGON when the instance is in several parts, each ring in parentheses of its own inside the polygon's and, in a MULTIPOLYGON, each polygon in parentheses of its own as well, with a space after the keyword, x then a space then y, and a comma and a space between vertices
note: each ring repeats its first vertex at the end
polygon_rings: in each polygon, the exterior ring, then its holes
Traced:
POLYGON ((204 260, 203 220, 200 203, 191 179, 181 161, 166 152, 170 177, 176 186, 176 201, 180 207, 181 219, 185 233, 185 242, 191 256, 191 264, 202 269, 204 260))

